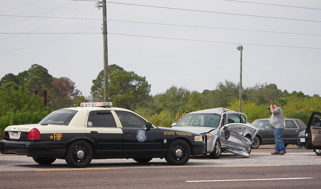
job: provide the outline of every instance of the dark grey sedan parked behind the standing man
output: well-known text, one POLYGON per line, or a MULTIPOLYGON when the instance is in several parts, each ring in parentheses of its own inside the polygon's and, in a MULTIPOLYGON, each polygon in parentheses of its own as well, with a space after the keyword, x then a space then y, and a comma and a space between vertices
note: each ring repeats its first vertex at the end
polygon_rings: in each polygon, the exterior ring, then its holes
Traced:
MULTIPOLYGON (((273 129, 269 126, 270 119, 257 119, 251 125, 260 129, 254 137, 252 148, 258 148, 260 145, 275 144, 273 129)), ((300 119, 285 118, 285 129, 283 130, 284 145, 297 144, 298 135, 307 128, 300 119)))

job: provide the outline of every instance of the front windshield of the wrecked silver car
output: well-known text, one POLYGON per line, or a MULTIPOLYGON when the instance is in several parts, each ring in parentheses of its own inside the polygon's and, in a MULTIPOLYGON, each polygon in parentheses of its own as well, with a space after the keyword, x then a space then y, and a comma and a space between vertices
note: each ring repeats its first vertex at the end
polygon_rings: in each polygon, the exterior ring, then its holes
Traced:
POLYGON ((187 114, 175 126, 215 127, 220 124, 219 114, 187 114))

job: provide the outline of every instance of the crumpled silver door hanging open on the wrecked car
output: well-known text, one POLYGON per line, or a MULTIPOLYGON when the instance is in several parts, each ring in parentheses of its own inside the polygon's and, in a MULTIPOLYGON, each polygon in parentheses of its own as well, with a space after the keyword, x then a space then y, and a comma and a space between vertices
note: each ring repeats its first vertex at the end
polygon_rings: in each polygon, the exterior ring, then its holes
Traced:
POLYGON ((248 158, 251 153, 251 144, 258 130, 244 123, 226 124, 220 129, 221 148, 248 158))

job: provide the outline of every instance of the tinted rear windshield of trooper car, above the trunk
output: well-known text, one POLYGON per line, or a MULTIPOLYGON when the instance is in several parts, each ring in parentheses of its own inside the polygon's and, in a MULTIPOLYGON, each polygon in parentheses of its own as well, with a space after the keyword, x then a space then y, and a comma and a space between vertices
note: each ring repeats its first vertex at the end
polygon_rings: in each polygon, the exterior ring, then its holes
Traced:
POLYGON ((68 125, 77 112, 76 110, 56 110, 43 118, 39 124, 68 125))

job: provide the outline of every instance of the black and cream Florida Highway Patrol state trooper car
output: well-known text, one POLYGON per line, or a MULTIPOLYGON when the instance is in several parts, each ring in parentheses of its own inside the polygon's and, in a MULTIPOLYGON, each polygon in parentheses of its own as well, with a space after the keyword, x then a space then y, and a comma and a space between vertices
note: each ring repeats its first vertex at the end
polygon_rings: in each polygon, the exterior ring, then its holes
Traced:
POLYGON ((205 151, 198 134, 155 127, 130 110, 111 106, 86 102, 53 111, 38 124, 8 126, 0 152, 26 155, 39 164, 65 159, 69 166, 82 168, 92 159, 116 158, 165 158, 171 165, 184 165, 190 155, 205 151))

